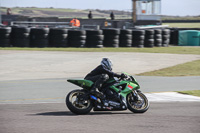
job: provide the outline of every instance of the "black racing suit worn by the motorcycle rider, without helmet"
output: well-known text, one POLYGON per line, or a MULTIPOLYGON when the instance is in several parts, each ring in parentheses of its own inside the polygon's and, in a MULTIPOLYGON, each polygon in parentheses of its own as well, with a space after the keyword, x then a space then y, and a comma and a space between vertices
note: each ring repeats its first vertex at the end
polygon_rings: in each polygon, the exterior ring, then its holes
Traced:
POLYGON ((93 81, 93 88, 98 88, 100 90, 103 83, 106 82, 109 77, 121 77, 121 75, 106 69, 103 65, 99 65, 87 74, 84 79, 93 81))

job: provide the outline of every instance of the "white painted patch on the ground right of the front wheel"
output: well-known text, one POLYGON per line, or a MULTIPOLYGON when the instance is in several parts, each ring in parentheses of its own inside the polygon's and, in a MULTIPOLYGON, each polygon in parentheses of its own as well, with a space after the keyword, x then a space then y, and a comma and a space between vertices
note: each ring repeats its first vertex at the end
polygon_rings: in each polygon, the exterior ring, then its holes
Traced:
POLYGON ((200 97, 177 92, 145 93, 150 102, 200 102, 200 97))

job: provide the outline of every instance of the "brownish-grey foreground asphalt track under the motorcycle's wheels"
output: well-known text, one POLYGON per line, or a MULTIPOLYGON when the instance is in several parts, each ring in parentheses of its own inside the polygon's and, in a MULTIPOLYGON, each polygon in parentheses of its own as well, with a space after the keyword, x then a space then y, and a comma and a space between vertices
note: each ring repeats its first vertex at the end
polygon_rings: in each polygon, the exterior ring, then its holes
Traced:
POLYGON ((1 133, 199 133, 200 102, 150 103, 146 113, 74 115, 64 103, 0 104, 1 133))

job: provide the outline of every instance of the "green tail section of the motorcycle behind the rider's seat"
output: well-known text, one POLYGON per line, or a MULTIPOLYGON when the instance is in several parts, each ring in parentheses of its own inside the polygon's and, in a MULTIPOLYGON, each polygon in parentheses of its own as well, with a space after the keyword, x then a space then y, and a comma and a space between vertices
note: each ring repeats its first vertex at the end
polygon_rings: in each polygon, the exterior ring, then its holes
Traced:
POLYGON ((90 88, 94 84, 92 81, 84 79, 68 79, 67 81, 82 88, 90 88))

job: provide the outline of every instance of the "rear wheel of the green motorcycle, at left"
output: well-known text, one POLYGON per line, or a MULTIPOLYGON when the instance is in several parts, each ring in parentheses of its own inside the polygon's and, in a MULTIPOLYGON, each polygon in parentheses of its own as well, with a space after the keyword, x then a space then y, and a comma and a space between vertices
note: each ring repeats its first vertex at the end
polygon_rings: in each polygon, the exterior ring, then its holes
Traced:
POLYGON ((92 102, 85 98, 85 92, 82 90, 73 90, 66 97, 66 105, 74 114, 87 114, 92 108, 92 102))

